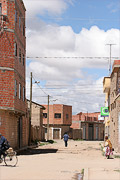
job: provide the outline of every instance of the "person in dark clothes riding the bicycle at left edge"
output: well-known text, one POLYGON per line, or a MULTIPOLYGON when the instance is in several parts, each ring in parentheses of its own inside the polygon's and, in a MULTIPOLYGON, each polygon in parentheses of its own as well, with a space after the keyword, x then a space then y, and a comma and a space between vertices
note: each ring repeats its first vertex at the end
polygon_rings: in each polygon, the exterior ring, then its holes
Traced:
POLYGON ((8 144, 7 139, 0 133, 0 160, 1 155, 4 154, 4 152, 9 149, 9 147, 10 145, 8 144))

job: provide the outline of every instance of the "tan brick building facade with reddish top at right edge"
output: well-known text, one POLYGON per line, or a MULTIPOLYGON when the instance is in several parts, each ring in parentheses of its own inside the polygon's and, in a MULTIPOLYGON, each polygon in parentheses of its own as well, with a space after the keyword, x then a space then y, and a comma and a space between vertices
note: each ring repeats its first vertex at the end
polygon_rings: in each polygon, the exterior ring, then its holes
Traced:
POLYGON ((115 60, 110 83, 110 140, 120 152, 120 60, 115 60))

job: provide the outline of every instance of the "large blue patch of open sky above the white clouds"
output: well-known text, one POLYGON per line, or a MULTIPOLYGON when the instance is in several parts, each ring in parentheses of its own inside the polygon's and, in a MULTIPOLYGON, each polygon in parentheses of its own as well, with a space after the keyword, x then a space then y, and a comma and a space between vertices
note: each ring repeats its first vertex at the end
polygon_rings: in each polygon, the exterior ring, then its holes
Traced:
POLYGON ((105 31, 111 28, 120 28, 120 1, 119 0, 75 0, 61 15, 52 16, 46 13, 40 16, 47 23, 71 26, 74 32, 89 29, 96 25, 105 31))

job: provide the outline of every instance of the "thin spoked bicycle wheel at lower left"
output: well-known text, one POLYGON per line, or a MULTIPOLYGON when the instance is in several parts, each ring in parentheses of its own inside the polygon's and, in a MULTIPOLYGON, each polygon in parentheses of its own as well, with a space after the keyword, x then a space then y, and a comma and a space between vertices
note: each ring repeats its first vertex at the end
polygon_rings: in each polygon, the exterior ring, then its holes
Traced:
POLYGON ((13 166, 14 167, 17 165, 18 158, 17 158, 16 154, 14 154, 14 155, 7 154, 4 157, 4 162, 5 162, 6 166, 13 166))

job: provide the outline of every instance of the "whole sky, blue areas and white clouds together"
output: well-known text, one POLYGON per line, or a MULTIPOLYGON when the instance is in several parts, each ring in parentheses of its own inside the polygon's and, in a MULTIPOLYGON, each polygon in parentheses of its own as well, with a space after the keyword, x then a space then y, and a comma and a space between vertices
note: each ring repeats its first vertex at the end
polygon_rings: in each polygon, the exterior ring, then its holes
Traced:
POLYGON ((79 107, 99 111, 104 106, 103 78, 108 76, 109 67, 110 49, 106 44, 116 44, 112 57, 120 56, 119 0, 24 2, 27 56, 32 57, 26 66, 28 98, 33 72, 41 87, 33 85, 33 100, 37 103, 47 103, 44 96, 49 94, 58 99, 55 103, 72 105, 73 114, 80 111, 79 107))

